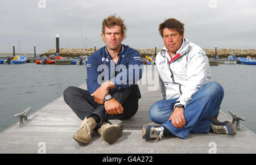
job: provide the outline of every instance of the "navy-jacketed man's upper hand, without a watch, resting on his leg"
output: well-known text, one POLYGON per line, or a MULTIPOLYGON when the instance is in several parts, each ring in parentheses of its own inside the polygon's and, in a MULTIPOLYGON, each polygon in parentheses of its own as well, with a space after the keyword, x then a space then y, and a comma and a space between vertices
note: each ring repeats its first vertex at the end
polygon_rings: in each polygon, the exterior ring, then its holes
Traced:
POLYGON ((91 96, 94 96, 95 102, 104 104, 105 96, 109 94, 111 88, 115 88, 115 85, 111 81, 106 81, 91 96))

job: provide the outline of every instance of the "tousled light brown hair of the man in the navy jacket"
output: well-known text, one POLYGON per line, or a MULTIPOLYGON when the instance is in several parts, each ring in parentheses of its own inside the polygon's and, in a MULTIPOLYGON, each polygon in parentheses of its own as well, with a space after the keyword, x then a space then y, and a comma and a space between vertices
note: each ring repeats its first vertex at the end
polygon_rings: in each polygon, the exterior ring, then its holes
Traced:
POLYGON ((127 28, 125 26, 125 21, 120 18, 119 16, 110 15, 108 18, 105 18, 102 22, 102 33, 101 35, 105 34, 105 27, 111 28, 113 26, 120 26, 121 27, 121 35, 123 36, 123 39, 126 38, 126 31, 127 28))

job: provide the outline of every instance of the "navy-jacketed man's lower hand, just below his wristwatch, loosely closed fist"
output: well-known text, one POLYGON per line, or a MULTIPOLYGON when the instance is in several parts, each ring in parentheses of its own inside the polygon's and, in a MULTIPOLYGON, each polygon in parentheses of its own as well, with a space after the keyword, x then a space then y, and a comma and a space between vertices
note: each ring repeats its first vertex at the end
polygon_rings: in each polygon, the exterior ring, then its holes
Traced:
POLYGON ((123 113, 122 105, 117 100, 115 100, 115 98, 112 98, 106 101, 104 106, 105 106, 106 112, 109 115, 118 115, 123 113))

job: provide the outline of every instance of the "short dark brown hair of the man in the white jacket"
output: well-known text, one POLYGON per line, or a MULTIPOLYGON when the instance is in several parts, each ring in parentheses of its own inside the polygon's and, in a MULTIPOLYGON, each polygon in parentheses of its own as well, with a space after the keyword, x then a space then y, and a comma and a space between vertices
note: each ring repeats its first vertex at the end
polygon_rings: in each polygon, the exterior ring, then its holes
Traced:
POLYGON ((169 18, 159 25, 158 30, 162 37, 163 37, 163 29, 164 28, 175 29, 176 31, 178 31, 180 33, 180 35, 184 34, 184 24, 174 18, 169 18))

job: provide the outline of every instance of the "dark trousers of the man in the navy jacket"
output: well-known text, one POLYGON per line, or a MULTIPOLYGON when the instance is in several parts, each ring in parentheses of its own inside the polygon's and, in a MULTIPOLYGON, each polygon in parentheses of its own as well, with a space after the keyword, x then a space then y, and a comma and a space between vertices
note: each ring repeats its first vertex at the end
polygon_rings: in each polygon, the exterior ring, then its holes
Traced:
POLYGON ((65 102, 81 120, 84 120, 85 117, 90 117, 92 115, 98 115, 101 118, 101 121, 98 123, 96 129, 101 126, 103 122, 109 122, 108 120, 129 119, 130 117, 134 116, 138 110, 138 101, 140 97, 138 85, 123 88, 119 91, 110 90, 109 94, 122 104, 122 114, 108 115, 104 104, 96 103, 94 101, 94 97, 92 97, 87 90, 83 90, 79 87, 71 86, 65 89, 63 92, 65 102))

